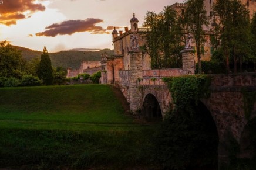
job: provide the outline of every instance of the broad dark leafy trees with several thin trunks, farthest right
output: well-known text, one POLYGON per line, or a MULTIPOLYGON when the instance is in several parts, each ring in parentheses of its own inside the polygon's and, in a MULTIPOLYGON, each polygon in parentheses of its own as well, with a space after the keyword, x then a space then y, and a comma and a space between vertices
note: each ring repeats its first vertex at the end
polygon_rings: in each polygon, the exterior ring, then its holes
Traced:
MULTIPOLYGON (((218 0, 214 7, 213 31, 221 41, 220 47, 225 57, 226 71, 230 71, 233 59, 234 72, 237 72, 237 62, 248 55, 250 23, 249 11, 237 0, 218 0)), ((241 68, 241 67, 240 67, 241 68)))

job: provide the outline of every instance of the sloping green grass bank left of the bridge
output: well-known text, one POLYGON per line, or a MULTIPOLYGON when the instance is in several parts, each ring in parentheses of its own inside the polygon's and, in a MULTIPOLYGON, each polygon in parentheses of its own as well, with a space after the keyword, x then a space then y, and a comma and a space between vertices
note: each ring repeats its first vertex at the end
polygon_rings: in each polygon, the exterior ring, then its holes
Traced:
POLYGON ((153 129, 124 114, 111 86, 0 89, 0 168, 149 166, 153 129))

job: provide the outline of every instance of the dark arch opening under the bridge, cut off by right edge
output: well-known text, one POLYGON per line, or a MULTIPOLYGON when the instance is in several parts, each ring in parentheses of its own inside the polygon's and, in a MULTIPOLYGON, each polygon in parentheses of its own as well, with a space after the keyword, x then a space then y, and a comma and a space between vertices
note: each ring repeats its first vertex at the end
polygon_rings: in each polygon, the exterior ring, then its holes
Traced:
POLYGON ((239 158, 256 160, 256 117, 250 120, 244 127, 240 138, 239 158))

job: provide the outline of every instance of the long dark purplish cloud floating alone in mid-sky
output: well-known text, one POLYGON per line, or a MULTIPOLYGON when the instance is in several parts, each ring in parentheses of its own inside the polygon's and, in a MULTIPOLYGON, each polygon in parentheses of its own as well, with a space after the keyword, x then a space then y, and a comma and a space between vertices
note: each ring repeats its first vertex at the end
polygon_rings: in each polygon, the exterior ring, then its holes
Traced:
POLYGON ((103 27, 96 26, 97 23, 102 22, 102 19, 97 18, 87 18, 85 20, 67 20, 61 23, 54 23, 46 27, 44 32, 36 33, 36 36, 55 37, 58 34, 71 35, 76 32, 91 32, 93 34, 107 33, 106 29, 103 29, 103 27))

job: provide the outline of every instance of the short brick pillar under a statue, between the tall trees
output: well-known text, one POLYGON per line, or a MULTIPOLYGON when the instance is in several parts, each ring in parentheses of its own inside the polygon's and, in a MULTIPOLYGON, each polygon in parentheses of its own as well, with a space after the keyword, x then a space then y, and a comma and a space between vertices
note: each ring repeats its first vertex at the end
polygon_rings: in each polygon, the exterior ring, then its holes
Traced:
POLYGON ((183 74, 195 74, 195 60, 193 48, 185 48, 180 52, 182 54, 183 74))

